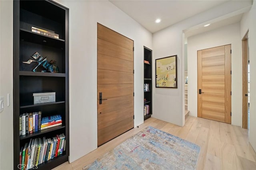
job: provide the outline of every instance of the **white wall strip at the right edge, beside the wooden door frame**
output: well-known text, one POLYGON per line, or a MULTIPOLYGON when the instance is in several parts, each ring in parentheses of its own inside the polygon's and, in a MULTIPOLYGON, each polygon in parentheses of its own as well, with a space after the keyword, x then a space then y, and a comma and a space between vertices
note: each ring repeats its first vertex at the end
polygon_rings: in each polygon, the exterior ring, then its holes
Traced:
POLYGON ((241 35, 244 37, 249 29, 249 56, 250 56, 250 127, 249 141, 254 150, 256 150, 256 0, 253 1, 253 6, 241 20, 241 35))

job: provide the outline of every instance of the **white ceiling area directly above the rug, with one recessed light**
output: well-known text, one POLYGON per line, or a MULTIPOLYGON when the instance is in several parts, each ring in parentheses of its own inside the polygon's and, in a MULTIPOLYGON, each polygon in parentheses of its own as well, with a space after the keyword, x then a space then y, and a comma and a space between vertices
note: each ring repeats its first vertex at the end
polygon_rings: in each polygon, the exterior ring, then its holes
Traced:
POLYGON ((110 0, 151 33, 227 2, 227 0, 110 0), (155 20, 160 18, 160 23, 155 20))

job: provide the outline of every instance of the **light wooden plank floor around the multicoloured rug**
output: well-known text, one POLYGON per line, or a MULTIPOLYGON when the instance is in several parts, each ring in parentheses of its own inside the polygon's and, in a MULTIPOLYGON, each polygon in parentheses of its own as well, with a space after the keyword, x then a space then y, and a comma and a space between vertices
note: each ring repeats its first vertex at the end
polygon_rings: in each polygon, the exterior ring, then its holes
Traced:
POLYGON ((132 137, 148 125, 196 143, 201 147, 198 170, 256 170, 256 153, 248 142, 248 130, 240 127, 203 119, 186 117, 184 127, 150 118, 138 128, 134 128, 98 149, 69 164, 54 170, 82 170, 82 168, 132 137))

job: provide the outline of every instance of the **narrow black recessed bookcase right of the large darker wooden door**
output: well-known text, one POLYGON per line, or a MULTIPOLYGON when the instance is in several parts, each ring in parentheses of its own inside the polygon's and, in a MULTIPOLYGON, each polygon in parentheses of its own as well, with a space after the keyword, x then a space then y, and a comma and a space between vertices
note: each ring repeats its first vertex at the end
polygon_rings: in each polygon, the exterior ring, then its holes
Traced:
POLYGON ((144 47, 144 84, 149 84, 149 89, 144 90, 144 107, 148 109, 148 112, 144 111, 146 120, 152 115, 152 50, 147 47, 144 47))

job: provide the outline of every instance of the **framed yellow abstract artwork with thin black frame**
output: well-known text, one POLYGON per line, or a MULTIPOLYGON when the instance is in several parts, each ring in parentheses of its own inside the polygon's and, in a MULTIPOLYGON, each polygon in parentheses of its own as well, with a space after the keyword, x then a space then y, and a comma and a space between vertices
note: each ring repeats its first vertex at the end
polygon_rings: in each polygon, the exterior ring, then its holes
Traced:
POLYGON ((156 88, 178 88, 177 57, 156 59, 156 88))

